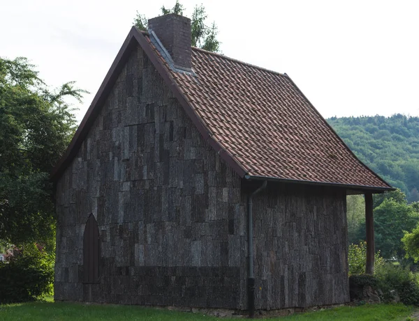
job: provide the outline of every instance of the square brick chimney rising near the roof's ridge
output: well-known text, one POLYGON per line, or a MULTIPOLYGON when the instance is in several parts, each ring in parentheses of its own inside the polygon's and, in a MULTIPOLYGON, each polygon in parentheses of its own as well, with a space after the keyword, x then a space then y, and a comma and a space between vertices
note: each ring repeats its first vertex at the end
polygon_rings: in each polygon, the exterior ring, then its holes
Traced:
POLYGON ((148 29, 159 38, 175 67, 191 69, 191 19, 174 13, 161 15, 149 19, 148 29))

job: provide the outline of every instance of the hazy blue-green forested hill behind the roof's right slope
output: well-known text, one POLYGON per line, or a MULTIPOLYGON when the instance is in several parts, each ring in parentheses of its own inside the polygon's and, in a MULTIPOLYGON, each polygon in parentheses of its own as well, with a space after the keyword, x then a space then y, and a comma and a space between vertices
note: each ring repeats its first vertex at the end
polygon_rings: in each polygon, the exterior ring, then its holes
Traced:
POLYGON ((332 117, 328 123, 362 162, 402 189, 409 202, 419 201, 418 117, 332 117))

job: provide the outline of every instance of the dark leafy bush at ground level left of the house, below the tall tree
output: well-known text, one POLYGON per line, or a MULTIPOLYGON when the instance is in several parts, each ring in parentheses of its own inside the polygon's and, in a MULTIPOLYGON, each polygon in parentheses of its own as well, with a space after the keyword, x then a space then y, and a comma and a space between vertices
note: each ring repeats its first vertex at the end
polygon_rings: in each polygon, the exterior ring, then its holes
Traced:
POLYGON ((54 255, 26 244, 7 263, 0 263, 0 304, 32 301, 52 293, 54 255))

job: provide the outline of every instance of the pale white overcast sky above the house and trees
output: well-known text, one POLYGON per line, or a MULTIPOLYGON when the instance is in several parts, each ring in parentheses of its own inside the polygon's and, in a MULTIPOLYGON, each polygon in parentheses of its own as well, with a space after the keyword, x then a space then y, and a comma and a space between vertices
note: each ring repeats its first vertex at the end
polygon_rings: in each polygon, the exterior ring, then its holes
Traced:
MULTIPOLYGON (((47 84, 75 80, 91 95, 124 42, 135 11, 175 0, 1 0, 0 56, 26 56, 47 84)), ((419 116, 419 1, 182 0, 203 3, 221 51, 286 72, 326 118, 419 116)))

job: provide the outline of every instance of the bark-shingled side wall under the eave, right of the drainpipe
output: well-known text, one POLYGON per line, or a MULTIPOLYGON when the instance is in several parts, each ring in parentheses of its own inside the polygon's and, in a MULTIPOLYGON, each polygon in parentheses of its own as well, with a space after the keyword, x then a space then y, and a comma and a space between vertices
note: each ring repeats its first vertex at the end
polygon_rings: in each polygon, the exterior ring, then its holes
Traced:
POLYGON ((268 184, 253 219, 256 308, 349 302, 344 191, 268 184))

